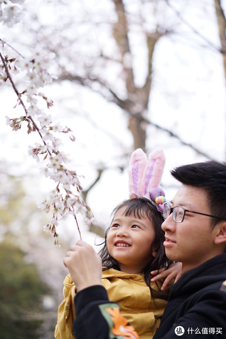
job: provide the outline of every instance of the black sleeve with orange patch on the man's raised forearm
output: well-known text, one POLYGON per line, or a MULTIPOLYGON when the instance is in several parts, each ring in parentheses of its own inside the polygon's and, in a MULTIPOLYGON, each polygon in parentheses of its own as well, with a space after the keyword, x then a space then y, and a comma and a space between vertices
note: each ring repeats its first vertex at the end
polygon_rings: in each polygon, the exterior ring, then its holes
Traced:
POLYGON ((133 327, 120 314, 119 305, 108 300, 103 286, 90 286, 80 291, 75 296, 75 309, 73 330, 76 339, 117 339, 125 332, 127 338, 138 338, 133 327))

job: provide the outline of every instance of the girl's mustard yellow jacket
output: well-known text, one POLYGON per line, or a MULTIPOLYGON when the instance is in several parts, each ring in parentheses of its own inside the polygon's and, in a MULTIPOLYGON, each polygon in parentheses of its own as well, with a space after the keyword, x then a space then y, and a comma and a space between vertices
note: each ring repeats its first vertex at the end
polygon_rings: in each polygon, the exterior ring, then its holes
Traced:
MULTIPOLYGON (((110 268, 103 271, 102 285, 107 290, 109 300, 119 303, 122 315, 135 328, 140 338, 151 339, 159 327, 167 301, 159 297, 153 301, 142 274, 130 274, 110 268)), ((159 290, 156 283, 151 283, 151 287, 159 290)), ((58 308, 56 339, 74 338, 72 324, 75 319, 75 292, 76 287, 68 274, 64 279, 65 299, 58 308)))

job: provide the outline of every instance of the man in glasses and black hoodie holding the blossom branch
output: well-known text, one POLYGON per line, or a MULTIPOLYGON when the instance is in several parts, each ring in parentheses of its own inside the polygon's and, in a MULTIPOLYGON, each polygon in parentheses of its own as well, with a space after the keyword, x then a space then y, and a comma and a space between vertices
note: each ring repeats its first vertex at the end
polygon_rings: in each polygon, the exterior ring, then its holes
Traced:
MULTIPOLYGON (((226 164, 184 165, 171 174, 182 185, 164 205, 164 246, 169 259, 182 262, 183 275, 171 287, 154 339, 226 338, 226 164)), ((106 312, 117 304, 101 286, 93 248, 77 242, 64 263, 77 286, 76 339, 137 338, 119 312, 106 312)))

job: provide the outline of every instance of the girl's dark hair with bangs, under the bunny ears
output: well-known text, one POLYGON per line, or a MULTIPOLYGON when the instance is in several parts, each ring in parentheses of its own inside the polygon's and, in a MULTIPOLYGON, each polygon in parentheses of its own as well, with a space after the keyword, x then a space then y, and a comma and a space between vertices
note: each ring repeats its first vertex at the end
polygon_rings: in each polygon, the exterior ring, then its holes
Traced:
MULTIPOLYGON (((164 231, 161 228, 161 225, 164 221, 161 213, 157 210, 156 206, 152 205, 151 201, 144 197, 137 197, 134 199, 124 200, 118 206, 116 206, 111 214, 111 216, 115 216, 115 214, 123 208, 125 216, 134 216, 135 218, 148 218, 151 220, 153 225, 153 230, 155 232, 155 238, 151 244, 151 250, 156 249, 156 257, 151 257, 150 262, 144 268, 144 280, 147 286, 150 288, 151 296, 154 297, 156 294, 161 294, 162 296, 166 293, 155 291, 150 286, 150 278, 151 271, 159 270, 162 267, 168 267, 173 261, 169 260, 166 257, 163 242, 165 240, 164 231)), ((108 252, 107 249, 107 234, 110 227, 107 229, 105 234, 104 246, 100 250, 99 255, 102 258, 102 265, 104 266, 103 270, 108 270, 109 268, 114 268, 115 270, 120 271, 119 264, 117 260, 115 260, 108 252)), ((144 239, 145 241, 145 239, 144 239)), ((157 295, 156 295, 157 296, 157 295)))

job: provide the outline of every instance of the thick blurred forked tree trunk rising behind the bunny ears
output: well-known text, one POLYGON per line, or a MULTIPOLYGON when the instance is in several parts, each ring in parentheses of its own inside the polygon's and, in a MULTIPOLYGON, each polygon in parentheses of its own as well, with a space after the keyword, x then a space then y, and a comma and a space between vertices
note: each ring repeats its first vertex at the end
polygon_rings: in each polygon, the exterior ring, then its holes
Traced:
POLYGON ((115 4, 118 22, 113 27, 113 37, 118 45, 121 53, 121 63, 123 65, 123 74, 126 78, 127 90, 127 106, 125 111, 130 113, 128 128, 133 136, 133 148, 142 148, 146 151, 146 127, 147 124, 142 121, 141 117, 145 118, 147 112, 150 89, 151 89, 151 73, 152 73, 152 56, 155 44, 163 35, 158 32, 146 33, 146 41, 148 48, 148 74, 145 84, 142 88, 135 85, 133 70, 132 70, 132 53, 128 38, 128 22, 126 18, 125 7, 122 0, 112 0, 115 4), (127 60, 127 61, 126 61, 127 60), (128 62, 129 60, 129 62, 128 62), (139 119, 136 115, 139 115, 139 119))

